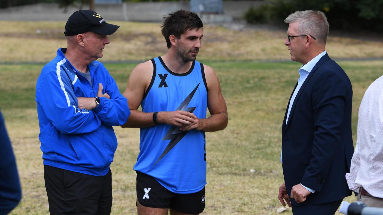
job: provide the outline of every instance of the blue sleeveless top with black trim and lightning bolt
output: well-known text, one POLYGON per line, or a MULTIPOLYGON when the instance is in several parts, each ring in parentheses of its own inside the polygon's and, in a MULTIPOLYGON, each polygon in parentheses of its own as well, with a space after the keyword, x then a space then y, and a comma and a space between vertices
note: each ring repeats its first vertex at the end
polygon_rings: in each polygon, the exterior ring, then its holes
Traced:
MULTIPOLYGON (((153 76, 141 107, 143 112, 188 111, 206 118, 207 85, 203 64, 193 61, 188 72, 172 72, 161 57, 151 59, 153 76)), ((168 190, 188 194, 206 184, 205 132, 181 131, 158 124, 140 130, 140 153, 134 170, 154 177, 168 190)))

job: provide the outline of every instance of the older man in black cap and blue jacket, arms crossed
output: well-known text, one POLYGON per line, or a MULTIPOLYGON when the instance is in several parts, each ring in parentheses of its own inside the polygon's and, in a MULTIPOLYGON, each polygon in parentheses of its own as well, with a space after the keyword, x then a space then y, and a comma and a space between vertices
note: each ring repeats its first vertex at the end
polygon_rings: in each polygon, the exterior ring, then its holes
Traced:
POLYGON ((112 126, 130 114, 127 99, 98 58, 119 26, 80 10, 65 24, 67 49, 44 66, 36 84, 51 214, 110 214, 110 164, 117 148, 112 126))

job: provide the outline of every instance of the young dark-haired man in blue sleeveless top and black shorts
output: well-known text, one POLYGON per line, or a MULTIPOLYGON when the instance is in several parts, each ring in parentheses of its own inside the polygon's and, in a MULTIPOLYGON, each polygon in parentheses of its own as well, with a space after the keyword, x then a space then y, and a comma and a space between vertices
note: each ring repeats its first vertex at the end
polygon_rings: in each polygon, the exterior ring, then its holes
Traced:
POLYGON ((195 60, 202 27, 195 13, 170 13, 161 25, 168 52, 137 65, 129 76, 123 95, 131 115, 122 127, 141 128, 134 165, 139 215, 167 215, 169 208, 172 215, 198 214, 205 208, 205 132, 223 130, 228 111, 216 73, 195 60))

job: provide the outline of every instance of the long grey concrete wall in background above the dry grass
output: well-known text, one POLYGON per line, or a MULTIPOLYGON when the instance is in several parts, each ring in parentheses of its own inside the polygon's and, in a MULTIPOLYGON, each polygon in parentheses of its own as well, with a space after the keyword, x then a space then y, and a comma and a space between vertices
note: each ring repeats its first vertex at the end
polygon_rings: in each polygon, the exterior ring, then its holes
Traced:
MULTIPOLYGON (((241 19, 250 6, 257 7, 262 1, 223 1, 224 15, 200 15, 201 19, 228 21, 241 19), (205 16, 205 17, 204 17, 205 16), (214 16, 212 18, 212 16, 214 16)), ((189 10, 189 2, 140 2, 122 4, 96 4, 95 11, 105 20, 162 21, 162 17, 174 10, 189 10)), ((82 9, 88 9, 85 5, 82 9)), ((79 7, 59 8, 56 3, 38 3, 0 9, 0 20, 66 21, 79 7)))

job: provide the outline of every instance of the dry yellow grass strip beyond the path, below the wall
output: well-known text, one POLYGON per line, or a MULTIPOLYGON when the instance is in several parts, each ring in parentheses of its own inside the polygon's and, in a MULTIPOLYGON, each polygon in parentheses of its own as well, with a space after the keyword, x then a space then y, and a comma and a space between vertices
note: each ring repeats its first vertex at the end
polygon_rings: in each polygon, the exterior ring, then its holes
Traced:
MULTIPOLYGON (((111 44, 106 46, 101 61, 141 61, 166 52, 159 23, 109 22, 121 27, 110 36, 111 44)), ((63 21, 0 21, 0 24, 0 39, 6 41, 0 62, 49 62, 59 47, 66 47, 63 21), (38 29, 40 34, 36 33, 38 29)), ((199 59, 289 59, 287 47, 283 45, 286 30, 234 31, 206 25, 199 59)), ((383 42, 330 36, 327 52, 333 58, 383 57, 382 46, 383 42)))

